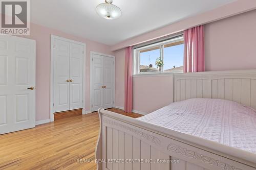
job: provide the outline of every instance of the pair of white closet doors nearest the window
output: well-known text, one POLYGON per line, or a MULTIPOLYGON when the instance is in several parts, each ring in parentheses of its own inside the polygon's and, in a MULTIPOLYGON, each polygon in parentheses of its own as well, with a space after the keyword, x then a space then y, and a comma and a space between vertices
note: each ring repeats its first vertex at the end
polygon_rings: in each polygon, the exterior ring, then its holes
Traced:
POLYGON ((115 59, 92 54, 92 111, 114 107, 115 59))

